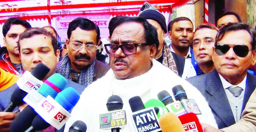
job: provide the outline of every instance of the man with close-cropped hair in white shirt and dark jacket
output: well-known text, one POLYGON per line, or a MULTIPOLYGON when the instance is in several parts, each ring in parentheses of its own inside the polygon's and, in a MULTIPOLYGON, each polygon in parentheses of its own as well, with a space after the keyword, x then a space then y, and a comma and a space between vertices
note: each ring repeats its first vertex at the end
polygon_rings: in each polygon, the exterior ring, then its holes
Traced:
POLYGON ((193 66, 193 63, 196 64, 196 62, 194 60, 193 50, 190 48, 193 40, 192 21, 186 17, 175 18, 168 24, 168 32, 169 38, 171 39, 171 51, 179 56, 185 57, 185 60, 176 60, 177 58, 175 58, 175 63, 178 63, 177 65, 183 71, 182 78, 186 79, 196 76, 193 66))

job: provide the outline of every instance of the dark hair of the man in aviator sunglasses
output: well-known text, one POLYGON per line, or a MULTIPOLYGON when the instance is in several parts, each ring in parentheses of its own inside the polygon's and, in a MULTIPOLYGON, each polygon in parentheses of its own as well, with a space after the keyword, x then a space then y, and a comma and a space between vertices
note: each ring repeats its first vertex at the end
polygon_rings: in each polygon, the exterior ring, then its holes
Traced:
POLYGON ((225 35, 225 33, 227 31, 238 31, 238 30, 246 30, 246 31, 248 31, 248 33, 251 36, 251 47, 252 47, 252 50, 255 50, 255 45, 256 45, 255 30, 254 30, 254 28, 251 28, 246 23, 229 23, 228 25, 223 26, 223 28, 221 28, 219 30, 219 32, 217 33, 217 35, 216 35, 215 45, 217 44, 218 41, 220 41, 223 38, 223 36, 225 35))

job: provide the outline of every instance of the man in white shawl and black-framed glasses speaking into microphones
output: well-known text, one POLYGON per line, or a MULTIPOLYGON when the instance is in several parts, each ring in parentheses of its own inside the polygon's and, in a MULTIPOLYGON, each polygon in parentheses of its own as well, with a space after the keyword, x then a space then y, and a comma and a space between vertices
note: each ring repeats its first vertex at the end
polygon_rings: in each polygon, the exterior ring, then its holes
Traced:
MULTIPOLYGON (((115 19, 115 18, 114 18, 115 19)), ((154 26, 141 17, 117 19, 110 25, 110 44, 105 49, 110 54, 111 69, 105 76, 90 84, 81 94, 80 100, 73 108, 71 118, 66 122, 65 132, 76 121, 86 122, 88 132, 100 132, 99 114, 106 113, 106 102, 111 95, 118 95, 123 101, 126 112, 126 127, 120 132, 134 132, 129 114, 129 99, 140 96, 143 102, 157 99, 158 92, 169 91, 171 87, 181 84, 188 97, 197 101, 201 122, 208 122, 217 127, 214 116, 201 93, 178 77, 171 69, 154 59, 159 45, 154 26)), ((110 130, 101 130, 109 132, 110 130)))

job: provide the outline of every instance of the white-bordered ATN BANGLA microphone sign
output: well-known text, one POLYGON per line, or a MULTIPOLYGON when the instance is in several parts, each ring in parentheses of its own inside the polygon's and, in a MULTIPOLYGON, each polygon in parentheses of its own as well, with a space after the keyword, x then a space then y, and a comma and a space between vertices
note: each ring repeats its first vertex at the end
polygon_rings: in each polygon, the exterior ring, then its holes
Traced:
POLYGON ((136 132, 160 132, 158 117, 153 107, 133 112, 131 115, 136 132))

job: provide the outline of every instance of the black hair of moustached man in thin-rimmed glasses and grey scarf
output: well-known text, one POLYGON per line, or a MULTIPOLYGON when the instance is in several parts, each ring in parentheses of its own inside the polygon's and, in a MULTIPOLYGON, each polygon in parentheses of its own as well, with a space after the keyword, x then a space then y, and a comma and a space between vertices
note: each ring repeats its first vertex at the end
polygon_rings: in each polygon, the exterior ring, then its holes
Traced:
POLYGON ((95 23, 89 19, 86 18, 75 18, 73 21, 71 21, 68 25, 68 31, 67 31, 67 35, 68 35, 68 39, 70 39, 71 36, 71 32, 73 30, 76 30, 76 28, 79 27, 82 30, 95 30, 97 33, 97 43, 100 39, 100 28, 95 25, 95 23))

